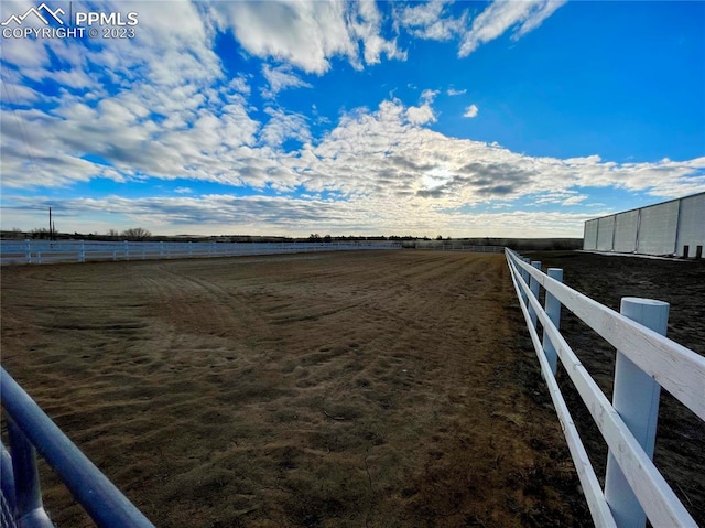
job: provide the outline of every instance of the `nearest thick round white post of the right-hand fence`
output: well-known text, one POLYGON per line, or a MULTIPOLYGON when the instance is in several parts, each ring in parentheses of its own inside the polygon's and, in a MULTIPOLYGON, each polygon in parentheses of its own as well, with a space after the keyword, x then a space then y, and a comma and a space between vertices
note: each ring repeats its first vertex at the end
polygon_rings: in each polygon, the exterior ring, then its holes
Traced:
MULTIPOLYGON (((621 300, 620 313, 665 335, 669 321, 668 302, 626 297, 621 300)), ((660 395, 661 386, 617 351, 612 406, 650 459, 653 459, 660 395)), ((607 459, 605 498, 619 528, 646 526, 647 514, 611 453, 607 459)))

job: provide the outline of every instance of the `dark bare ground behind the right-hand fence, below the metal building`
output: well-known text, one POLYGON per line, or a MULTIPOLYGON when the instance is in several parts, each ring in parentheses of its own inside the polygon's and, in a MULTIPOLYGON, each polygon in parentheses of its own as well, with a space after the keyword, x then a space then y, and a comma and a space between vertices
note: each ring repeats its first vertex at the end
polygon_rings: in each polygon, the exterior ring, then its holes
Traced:
MULTIPOLYGON (((705 355, 705 261, 653 260, 582 252, 525 254, 546 266, 563 268, 564 282, 619 311, 622 297, 658 299, 671 304, 666 335, 705 355)), ((605 394, 611 399, 615 349, 564 311, 562 333, 605 394)), ((596 466, 605 474, 607 446, 565 373, 561 387, 568 397, 581 435, 596 466)), ((705 396, 705 388, 704 396, 705 396)), ((653 460, 695 521, 705 527, 705 423, 680 401, 661 391, 653 460)), ((603 481, 604 483, 604 481, 603 481)))

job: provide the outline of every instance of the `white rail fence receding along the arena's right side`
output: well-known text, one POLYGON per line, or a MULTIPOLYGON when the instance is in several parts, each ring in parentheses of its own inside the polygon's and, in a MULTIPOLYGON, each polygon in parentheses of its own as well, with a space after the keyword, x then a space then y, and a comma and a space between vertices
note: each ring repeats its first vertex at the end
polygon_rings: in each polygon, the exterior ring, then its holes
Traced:
POLYGON ((705 357, 662 335, 666 303, 625 298, 622 313, 617 313, 564 285, 562 270, 550 269, 545 274, 541 262, 529 263, 509 249, 506 256, 595 526, 643 527, 648 517, 654 527, 696 527, 651 459, 661 387, 705 420, 705 357), (545 310, 539 302, 541 287, 545 289, 545 310), (561 335, 561 305, 617 348, 612 403, 561 335), (655 323, 646 322, 655 330, 634 321, 644 313, 658 313, 655 323), (543 340, 536 323, 543 327, 543 340), (605 492, 556 382, 557 358, 607 442, 605 492))

